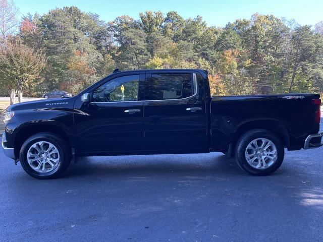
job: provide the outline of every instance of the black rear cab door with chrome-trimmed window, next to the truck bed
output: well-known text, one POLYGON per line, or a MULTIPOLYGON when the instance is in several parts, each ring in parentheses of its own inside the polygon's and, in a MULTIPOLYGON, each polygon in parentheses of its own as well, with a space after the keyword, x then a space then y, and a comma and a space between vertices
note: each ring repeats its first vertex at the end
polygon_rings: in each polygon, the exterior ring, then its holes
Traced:
POLYGON ((144 142, 152 153, 204 152, 207 147, 203 83, 191 71, 146 73, 144 142))

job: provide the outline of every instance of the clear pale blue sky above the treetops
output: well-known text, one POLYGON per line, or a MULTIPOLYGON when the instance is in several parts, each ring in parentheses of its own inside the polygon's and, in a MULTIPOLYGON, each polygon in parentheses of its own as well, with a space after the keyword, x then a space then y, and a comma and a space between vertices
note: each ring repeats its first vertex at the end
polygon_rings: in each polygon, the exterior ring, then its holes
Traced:
POLYGON ((224 27, 236 19, 250 19, 254 13, 273 14, 287 20, 295 19, 301 25, 315 25, 323 21, 323 0, 271 0, 271 1, 239 1, 239 0, 14 0, 20 14, 47 13, 50 9, 64 6, 76 6, 84 12, 98 14, 101 20, 112 21, 121 15, 139 18, 140 12, 176 11, 182 17, 200 15, 208 26, 224 27))

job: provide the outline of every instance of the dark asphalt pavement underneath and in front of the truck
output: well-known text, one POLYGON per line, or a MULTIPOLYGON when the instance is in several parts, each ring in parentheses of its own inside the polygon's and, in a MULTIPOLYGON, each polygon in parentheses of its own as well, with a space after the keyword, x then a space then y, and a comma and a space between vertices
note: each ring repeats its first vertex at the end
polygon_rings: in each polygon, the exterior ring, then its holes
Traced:
POLYGON ((323 241, 322 157, 265 177, 220 153, 89 157, 37 180, 0 151, 0 241, 323 241))

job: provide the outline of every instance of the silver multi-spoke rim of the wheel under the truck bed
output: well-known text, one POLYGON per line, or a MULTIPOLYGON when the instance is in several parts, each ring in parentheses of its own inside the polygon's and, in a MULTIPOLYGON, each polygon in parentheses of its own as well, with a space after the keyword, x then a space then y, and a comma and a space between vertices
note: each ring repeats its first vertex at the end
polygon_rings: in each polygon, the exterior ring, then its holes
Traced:
POLYGON ((266 169, 276 162, 277 148, 271 140, 258 138, 248 144, 245 157, 253 168, 266 169))

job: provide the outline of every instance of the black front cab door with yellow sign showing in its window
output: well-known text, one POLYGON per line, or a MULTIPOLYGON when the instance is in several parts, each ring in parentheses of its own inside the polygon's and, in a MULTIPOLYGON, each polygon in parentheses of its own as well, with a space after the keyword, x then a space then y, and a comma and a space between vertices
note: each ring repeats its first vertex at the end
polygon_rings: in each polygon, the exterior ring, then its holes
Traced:
POLYGON ((143 82, 144 74, 118 76, 90 93, 90 102, 74 115, 79 152, 122 154, 143 149, 143 82))

